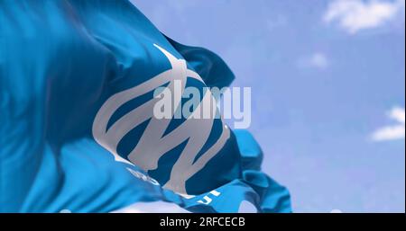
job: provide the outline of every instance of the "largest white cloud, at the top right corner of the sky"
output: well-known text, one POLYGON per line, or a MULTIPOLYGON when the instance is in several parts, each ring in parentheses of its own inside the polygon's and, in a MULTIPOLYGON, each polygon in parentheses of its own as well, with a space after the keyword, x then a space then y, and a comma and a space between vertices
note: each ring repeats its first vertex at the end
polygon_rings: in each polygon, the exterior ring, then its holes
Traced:
MULTIPOLYGON (((363 29, 382 26, 404 15, 405 0, 335 0, 328 5, 324 22, 338 22, 347 32, 354 34, 363 29)), ((404 17, 404 16, 403 16, 404 17)))

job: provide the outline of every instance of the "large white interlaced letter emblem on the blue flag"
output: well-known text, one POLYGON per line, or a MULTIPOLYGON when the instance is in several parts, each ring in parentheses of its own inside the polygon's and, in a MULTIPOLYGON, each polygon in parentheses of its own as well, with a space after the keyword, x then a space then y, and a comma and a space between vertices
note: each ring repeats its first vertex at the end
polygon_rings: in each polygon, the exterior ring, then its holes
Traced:
MULTIPOLYGON (((163 136, 171 119, 157 119, 153 116, 154 105, 159 99, 152 98, 149 102, 145 102, 143 105, 129 111, 107 129, 108 121, 115 111, 125 104, 125 102, 129 102, 144 93, 149 93, 162 84, 169 83, 167 88, 175 93, 174 108, 176 108, 176 106, 179 106, 181 103, 181 95, 185 89, 188 76, 203 82, 196 72, 187 68, 185 60, 175 58, 167 50, 162 49, 156 44, 154 44, 154 46, 160 49, 163 55, 168 58, 171 63, 171 69, 152 77, 152 79, 143 84, 139 84, 120 93, 115 93, 108 98, 97 112, 93 122, 92 133, 97 143, 111 152, 115 156, 116 161, 135 164, 145 171, 156 169, 162 155, 172 148, 179 146, 189 138, 186 147, 184 147, 179 159, 171 169, 170 180, 163 185, 166 189, 186 194, 185 182, 195 173, 198 173, 198 171, 224 147, 226 140, 229 138, 230 131, 226 125, 224 125, 224 122, 220 137, 213 146, 209 147, 203 155, 199 156, 195 163, 193 162, 196 155, 198 155, 208 140, 208 136, 213 127, 214 118, 198 120, 190 116, 188 120, 185 120, 178 128, 173 129, 170 133, 163 136), (177 93, 174 91, 175 80, 181 83, 181 92, 178 91, 177 93), (124 138, 129 131, 146 120, 150 120, 150 122, 136 147, 127 155, 129 161, 118 155, 117 146, 120 140, 124 138)), ((205 104, 205 102, 214 102, 213 96, 209 91, 204 94, 200 105, 205 104)), ((200 111, 200 109, 198 108, 195 111, 200 111)))

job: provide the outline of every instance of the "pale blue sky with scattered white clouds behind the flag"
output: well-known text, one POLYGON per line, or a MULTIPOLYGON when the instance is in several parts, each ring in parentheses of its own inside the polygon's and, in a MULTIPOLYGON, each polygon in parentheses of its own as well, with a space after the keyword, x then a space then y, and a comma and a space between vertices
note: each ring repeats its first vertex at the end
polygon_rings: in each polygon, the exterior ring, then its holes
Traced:
POLYGON ((252 87, 263 171, 295 212, 405 212, 404 0, 132 0, 252 87))

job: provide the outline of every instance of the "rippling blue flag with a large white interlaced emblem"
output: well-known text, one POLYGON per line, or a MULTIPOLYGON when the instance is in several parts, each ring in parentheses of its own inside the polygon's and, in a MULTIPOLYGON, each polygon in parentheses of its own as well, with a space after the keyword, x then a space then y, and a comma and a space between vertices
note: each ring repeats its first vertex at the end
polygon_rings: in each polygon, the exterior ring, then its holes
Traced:
MULTIPOLYGON (((230 84, 216 54, 165 37, 127 1, 0 6, 0 212, 153 201, 192 212, 291 211, 247 131, 221 117, 153 116, 159 87, 230 84)), ((211 98, 203 93, 200 104, 211 98)))

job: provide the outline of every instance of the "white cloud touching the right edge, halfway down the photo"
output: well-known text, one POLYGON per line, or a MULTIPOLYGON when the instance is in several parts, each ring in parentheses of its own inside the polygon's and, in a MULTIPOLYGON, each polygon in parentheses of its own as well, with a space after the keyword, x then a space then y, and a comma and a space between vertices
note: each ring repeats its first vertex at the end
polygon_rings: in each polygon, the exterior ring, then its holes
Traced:
POLYGON ((374 141, 385 141, 405 138, 405 111, 404 108, 395 107, 389 111, 388 117, 396 120, 398 124, 378 129, 372 135, 374 141))

